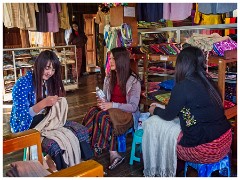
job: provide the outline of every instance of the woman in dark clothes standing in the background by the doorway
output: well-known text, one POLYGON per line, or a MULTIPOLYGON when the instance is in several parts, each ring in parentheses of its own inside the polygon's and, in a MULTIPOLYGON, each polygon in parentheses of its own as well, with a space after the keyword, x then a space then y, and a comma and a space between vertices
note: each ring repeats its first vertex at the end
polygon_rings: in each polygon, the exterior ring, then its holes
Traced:
POLYGON ((76 54, 77 54, 77 69, 75 64, 72 64, 72 75, 73 78, 76 79, 81 76, 81 68, 82 68, 82 53, 84 52, 85 44, 87 43, 87 36, 78 26, 77 22, 72 22, 72 33, 69 37, 68 44, 76 45, 76 54), (77 72, 76 72, 77 71, 77 72))

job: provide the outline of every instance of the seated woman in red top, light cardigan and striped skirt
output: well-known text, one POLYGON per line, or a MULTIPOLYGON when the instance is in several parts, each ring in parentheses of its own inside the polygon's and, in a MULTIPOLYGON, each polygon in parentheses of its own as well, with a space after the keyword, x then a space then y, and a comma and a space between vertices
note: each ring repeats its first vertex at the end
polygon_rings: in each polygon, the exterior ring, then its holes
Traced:
POLYGON ((104 100, 98 98, 98 107, 92 107, 83 119, 89 130, 95 153, 108 149, 109 169, 114 169, 124 160, 116 151, 116 137, 137 124, 140 100, 140 79, 130 68, 129 52, 125 47, 111 50, 111 71, 103 85, 104 100))

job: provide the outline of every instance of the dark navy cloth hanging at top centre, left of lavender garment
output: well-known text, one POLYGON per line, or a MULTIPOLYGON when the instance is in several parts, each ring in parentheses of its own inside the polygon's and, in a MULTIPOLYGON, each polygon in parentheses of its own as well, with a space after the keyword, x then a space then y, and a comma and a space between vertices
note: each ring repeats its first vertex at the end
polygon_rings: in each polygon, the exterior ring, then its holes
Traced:
POLYGON ((137 20, 158 22, 163 18, 163 3, 137 3, 137 20))

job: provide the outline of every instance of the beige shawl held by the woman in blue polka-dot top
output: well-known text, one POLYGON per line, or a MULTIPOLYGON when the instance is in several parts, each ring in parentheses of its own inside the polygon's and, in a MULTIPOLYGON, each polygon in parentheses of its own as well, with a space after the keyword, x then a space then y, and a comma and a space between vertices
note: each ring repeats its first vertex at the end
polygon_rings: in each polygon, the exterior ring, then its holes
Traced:
POLYGON ((59 98, 47 116, 35 127, 43 137, 53 139, 64 150, 63 159, 70 167, 81 162, 81 151, 78 138, 65 127, 68 104, 66 98, 59 98))

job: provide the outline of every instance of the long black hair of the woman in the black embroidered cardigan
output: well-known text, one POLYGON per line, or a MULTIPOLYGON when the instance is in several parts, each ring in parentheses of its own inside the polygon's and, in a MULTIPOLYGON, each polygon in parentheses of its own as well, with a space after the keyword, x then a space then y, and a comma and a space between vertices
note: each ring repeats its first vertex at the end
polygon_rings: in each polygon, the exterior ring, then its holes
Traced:
POLYGON ((197 47, 184 48, 177 57, 175 68, 176 83, 197 76, 207 89, 212 101, 222 107, 222 97, 214 81, 206 72, 206 59, 197 47))

